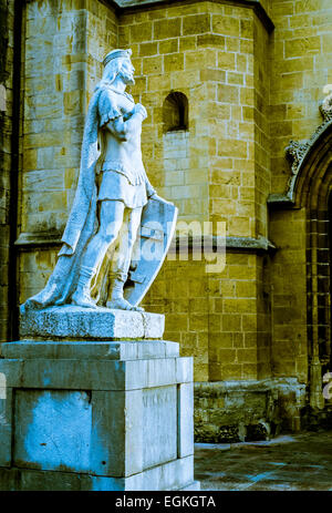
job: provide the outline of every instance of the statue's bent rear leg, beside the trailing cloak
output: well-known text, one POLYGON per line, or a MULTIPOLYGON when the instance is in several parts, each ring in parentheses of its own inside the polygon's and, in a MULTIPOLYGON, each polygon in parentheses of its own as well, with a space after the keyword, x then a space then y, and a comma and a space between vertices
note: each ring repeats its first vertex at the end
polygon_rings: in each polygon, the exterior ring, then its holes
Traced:
POLYGON ((72 296, 72 302, 77 306, 96 308, 91 299, 91 281, 107 249, 116 240, 124 216, 123 202, 105 199, 100 206, 100 228, 89 243, 81 264, 77 288, 72 296))

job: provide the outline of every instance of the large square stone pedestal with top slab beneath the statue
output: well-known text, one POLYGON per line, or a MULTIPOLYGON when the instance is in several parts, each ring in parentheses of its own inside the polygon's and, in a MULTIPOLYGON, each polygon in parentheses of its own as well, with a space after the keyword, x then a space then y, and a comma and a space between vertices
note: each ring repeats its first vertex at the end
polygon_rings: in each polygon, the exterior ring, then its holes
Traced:
POLYGON ((24 314, 0 359, 0 490, 198 490, 193 359, 163 330, 155 314, 24 314))

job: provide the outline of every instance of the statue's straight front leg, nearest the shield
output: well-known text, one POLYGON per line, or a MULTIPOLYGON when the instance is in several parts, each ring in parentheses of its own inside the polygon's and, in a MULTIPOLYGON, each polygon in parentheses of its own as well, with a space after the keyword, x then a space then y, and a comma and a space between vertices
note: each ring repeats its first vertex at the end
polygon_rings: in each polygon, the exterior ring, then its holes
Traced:
POLYGON ((111 265, 111 308, 143 311, 143 308, 131 305, 123 297, 123 287, 128 276, 133 247, 141 225, 142 208, 128 208, 118 236, 118 248, 111 265))

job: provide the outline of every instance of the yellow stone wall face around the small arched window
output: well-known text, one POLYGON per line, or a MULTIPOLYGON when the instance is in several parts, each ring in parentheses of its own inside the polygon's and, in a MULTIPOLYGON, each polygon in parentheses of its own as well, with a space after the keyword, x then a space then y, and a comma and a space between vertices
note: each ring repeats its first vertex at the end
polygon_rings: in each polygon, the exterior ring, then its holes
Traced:
POLYGON ((132 48, 137 80, 134 96, 147 107, 143 125, 143 156, 158 193, 174 201, 180 218, 208 220, 209 96, 206 73, 217 65, 224 38, 209 39, 211 14, 206 2, 120 17, 118 44, 132 48), (205 75, 204 75, 205 74, 205 75), (189 131, 164 133, 163 104, 170 91, 189 103, 189 131), (170 148, 169 145, 173 145, 170 148), (167 151, 166 151, 167 150, 167 151))

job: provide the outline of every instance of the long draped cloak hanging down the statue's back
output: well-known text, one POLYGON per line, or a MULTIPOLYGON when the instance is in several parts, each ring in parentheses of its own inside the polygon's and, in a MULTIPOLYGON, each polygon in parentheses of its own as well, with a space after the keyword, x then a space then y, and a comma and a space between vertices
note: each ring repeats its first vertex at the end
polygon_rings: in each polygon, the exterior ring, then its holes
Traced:
POLYGON ((81 259, 90 238, 97 229, 96 164, 98 150, 98 99, 103 88, 96 88, 89 104, 81 150, 77 188, 63 236, 63 246, 46 286, 29 298, 24 308, 45 308, 70 302, 75 291, 81 259))

